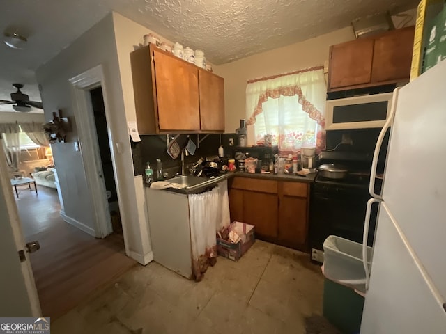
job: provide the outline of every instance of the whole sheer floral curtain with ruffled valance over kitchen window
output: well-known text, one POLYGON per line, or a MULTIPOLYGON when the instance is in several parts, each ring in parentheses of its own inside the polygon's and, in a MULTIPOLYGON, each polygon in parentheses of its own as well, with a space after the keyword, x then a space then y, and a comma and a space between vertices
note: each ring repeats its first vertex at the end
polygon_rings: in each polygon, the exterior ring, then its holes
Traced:
POLYGON ((257 143, 271 134, 281 152, 309 145, 325 148, 326 92, 323 66, 248 81, 247 124, 254 125, 257 143))

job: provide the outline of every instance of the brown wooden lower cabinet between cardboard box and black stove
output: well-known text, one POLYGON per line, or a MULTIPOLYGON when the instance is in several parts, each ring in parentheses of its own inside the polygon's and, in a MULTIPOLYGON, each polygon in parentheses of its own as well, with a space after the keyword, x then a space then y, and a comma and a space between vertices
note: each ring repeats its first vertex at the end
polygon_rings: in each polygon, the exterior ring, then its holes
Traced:
POLYGON ((229 186, 232 221, 254 225, 258 239, 307 250, 309 184, 235 177, 229 186))

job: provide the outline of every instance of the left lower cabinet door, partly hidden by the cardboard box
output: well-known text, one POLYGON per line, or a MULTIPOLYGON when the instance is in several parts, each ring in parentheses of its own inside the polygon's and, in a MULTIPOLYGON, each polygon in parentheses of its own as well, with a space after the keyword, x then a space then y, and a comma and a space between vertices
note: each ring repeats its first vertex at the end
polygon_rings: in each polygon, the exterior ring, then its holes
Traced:
POLYGON ((277 238, 277 194, 243 191, 243 218, 260 239, 277 238))

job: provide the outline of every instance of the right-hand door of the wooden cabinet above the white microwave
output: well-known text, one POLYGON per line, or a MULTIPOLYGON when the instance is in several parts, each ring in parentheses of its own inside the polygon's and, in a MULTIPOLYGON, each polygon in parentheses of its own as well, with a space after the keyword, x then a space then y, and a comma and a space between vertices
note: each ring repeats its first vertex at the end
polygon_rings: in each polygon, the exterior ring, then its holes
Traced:
POLYGON ((409 79, 414 33, 410 26, 375 39, 371 81, 409 79))

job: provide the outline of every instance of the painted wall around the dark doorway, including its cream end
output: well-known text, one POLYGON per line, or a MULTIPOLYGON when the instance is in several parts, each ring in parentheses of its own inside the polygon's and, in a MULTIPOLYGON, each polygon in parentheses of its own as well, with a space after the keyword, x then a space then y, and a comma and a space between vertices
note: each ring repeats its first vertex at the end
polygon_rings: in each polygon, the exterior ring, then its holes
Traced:
POLYGON ((140 210, 137 203, 140 201, 140 196, 137 196, 133 177, 112 13, 52 60, 39 67, 36 72, 37 81, 43 86, 41 96, 45 117, 52 118, 51 111, 62 109, 63 115, 70 116, 74 123, 73 131, 68 136, 68 143, 53 145, 54 163, 59 175, 65 213, 79 223, 93 226, 92 200, 84 173, 84 164, 88 164, 89 161, 82 161, 80 152, 75 152, 74 149, 73 141, 77 141, 78 136, 68 80, 100 64, 107 86, 107 106, 110 115, 107 121, 114 139, 112 144, 116 148, 116 143, 121 143, 122 148, 121 153, 114 150, 113 157, 126 253, 135 260, 146 263, 151 260, 152 253, 148 242, 147 221, 138 214, 140 210))

